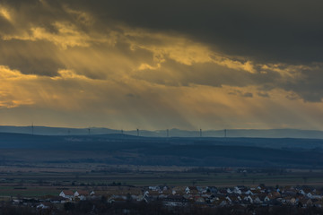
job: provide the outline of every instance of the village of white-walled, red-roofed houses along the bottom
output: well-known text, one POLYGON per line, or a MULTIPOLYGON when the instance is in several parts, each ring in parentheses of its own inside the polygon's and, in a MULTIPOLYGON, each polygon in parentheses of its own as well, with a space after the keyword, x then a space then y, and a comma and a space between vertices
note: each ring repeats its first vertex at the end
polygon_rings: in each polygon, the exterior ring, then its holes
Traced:
MULTIPOLYGON (((12 199, 12 205, 35 208, 37 211, 52 211, 59 208, 73 209, 74 203, 100 200, 105 204, 129 202, 161 202, 163 207, 225 208, 249 206, 291 206, 295 208, 322 208, 323 189, 309 186, 255 187, 234 186, 107 186, 101 190, 62 190, 57 196, 42 198, 12 199)), ((127 213, 127 212, 126 212, 127 213)))

